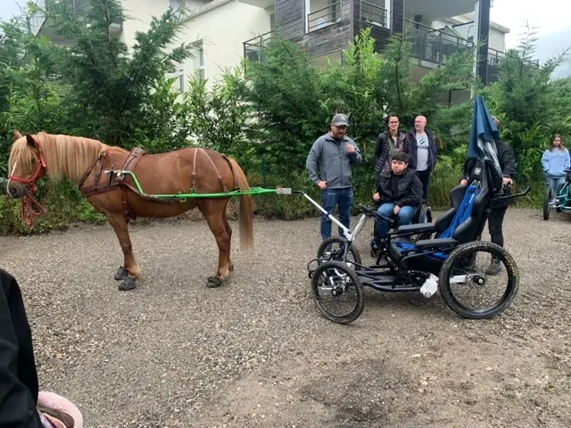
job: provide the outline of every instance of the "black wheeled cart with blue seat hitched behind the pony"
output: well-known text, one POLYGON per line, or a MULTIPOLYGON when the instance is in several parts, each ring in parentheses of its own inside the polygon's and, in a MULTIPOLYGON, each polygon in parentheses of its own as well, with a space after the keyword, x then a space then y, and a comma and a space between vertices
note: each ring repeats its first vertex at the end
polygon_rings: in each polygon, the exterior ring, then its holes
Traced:
MULTIPOLYGON (((420 292, 426 298, 440 291, 450 309, 472 319, 494 317, 507 309, 517 294, 516 261, 509 251, 482 241, 481 236, 494 202, 524 196, 530 188, 523 193, 503 195, 501 177, 492 177, 486 161, 476 161, 468 184, 451 190, 451 209, 434 224, 400 226, 390 233, 372 266, 362 264, 355 238, 367 218, 385 219, 392 224, 393 219, 381 218, 374 208, 360 206, 360 218, 350 229, 329 216, 343 229, 343 237, 332 237, 321 243, 317 259, 308 263, 311 292, 323 315, 340 324, 356 320, 364 309, 363 286, 381 292, 420 292), (422 234, 435 237, 415 242, 414 236, 422 234), (335 245, 339 248, 332 250, 335 245), (478 267, 478 253, 491 256, 483 267, 478 267), (460 292, 468 291, 468 296, 475 292, 479 297, 486 285, 499 277, 485 274, 492 258, 500 259, 507 276, 500 297, 484 307, 468 306, 459 300, 454 290, 458 286, 460 292), (317 267, 312 268, 313 263, 317 263, 317 267), (353 294, 354 302, 348 309, 336 312, 329 307, 328 300, 336 306, 353 294)), ((327 214, 317 202, 305 196, 327 214)))

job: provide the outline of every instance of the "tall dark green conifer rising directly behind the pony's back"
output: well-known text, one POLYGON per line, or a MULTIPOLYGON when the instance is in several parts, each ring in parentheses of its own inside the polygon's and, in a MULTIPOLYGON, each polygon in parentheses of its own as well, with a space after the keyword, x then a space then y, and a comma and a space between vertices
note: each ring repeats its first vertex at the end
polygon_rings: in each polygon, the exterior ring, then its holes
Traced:
MULTIPOLYGON (((182 25, 172 9, 153 17, 147 31, 137 31, 129 52, 112 34, 112 25, 125 21, 118 0, 93 0, 82 13, 71 7, 71 0, 51 0, 46 13, 57 34, 71 45, 52 46, 57 71, 70 85, 65 100, 70 117, 83 124, 83 135, 130 144, 136 130, 145 133, 149 125, 141 110, 152 103, 153 89, 160 90, 175 64, 191 57, 194 45, 183 43, 169 50, 182 25)), ((149 131, 153 135, 153 129, 149 131)))

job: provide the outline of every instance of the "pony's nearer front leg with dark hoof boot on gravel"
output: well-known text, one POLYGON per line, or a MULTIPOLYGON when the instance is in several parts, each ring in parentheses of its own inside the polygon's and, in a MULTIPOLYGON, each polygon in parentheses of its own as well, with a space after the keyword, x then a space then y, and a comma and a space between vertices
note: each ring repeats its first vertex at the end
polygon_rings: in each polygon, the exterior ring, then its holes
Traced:
POLYGON ((137 259, 135 259, 133 255, 133 245, 128 235, 127 219, 123 212, 109 212, 105 217, 119 239, 124 256, 123 266, 121 266, 117 274, 115 274, 115 280, 121 281, 121 284, 119 284, 119 290, 121 292, 133 290, 137 287, 137 279, 141 276, 141 270, 137 259))

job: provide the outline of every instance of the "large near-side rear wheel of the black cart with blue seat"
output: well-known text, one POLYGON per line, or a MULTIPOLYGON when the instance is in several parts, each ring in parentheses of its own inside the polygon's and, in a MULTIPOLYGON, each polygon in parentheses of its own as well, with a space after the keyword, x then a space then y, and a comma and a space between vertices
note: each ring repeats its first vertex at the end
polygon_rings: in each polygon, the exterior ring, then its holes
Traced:
POLYGON ((443 300, 466 318, 494 317, 508 308, 517 294, 516 262, 495 243, 477 241, 460 245, 444 261, 439 276, 443 300), (498 299, 484 303, 485 296, 492 293, 498 294, 498 299), (465 303, 460 295, 471 298, 475 304, 465 303))

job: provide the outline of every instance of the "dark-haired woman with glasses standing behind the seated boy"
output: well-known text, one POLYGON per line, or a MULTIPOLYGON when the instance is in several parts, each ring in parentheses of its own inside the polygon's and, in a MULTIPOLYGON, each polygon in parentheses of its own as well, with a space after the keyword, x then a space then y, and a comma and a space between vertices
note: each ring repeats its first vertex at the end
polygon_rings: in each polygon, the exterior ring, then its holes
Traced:
MULTIPOLYGON (((387 129, 377 138, 377 150, 375 151, 375 177, 391 173, 391 162, 394 153, 409 153, 409 136, 400 130, 401 119, 396 113, 389 114, 386 119, 387 129)), ((414 168, 413 168, 414 169, 414 168)))

